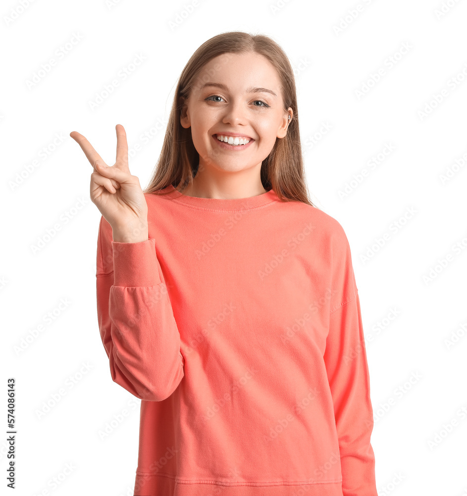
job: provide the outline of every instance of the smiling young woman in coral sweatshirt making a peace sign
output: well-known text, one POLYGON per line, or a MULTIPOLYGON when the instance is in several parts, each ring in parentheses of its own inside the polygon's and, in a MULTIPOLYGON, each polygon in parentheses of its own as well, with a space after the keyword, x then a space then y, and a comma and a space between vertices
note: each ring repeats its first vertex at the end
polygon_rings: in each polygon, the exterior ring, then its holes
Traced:
POLYGON ((99 327, 141 401, 135 495, 377 496, 358 289, 308 199, 292 67, 214 36, 183 69, 154 176, 123 126, 94 172, 99 327))

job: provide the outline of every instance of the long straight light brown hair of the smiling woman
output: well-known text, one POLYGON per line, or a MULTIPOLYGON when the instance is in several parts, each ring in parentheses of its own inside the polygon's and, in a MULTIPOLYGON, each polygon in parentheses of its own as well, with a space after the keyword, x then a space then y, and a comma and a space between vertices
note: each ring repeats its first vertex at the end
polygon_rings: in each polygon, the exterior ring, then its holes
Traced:
MULTIPOLYGON (((283 138, 276 138, 271 152, 262 161, 261 183, 267 191, 272 188, 282 201, 302 201, 315 207, 309 197, 305 180, 297 91, 292 66, 282 48, 271 38, 243 31, 230 31, 213 36, 195 51, 185 65, 175 90, 162 150, 150 184, 144 189, 145 193, 153 193, 169 185, 182 192, 193 183, 200 156, 193 144, 191 129, 184 128, 180 123, 183 99, 188 99, 197 78, 202 78, 204 65, 211 59, 223 56, 215 66, 220 67, 222 63, 229 62, 229 54, 248 52, 262 55, 276 68, 281 81, 284 110, 287 111, 290 107, 293 111, 287 134, 283 138)), ((208 160, 208 157, 206 159, 208 160)))

